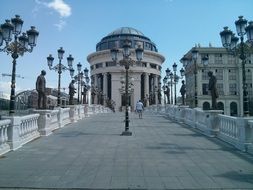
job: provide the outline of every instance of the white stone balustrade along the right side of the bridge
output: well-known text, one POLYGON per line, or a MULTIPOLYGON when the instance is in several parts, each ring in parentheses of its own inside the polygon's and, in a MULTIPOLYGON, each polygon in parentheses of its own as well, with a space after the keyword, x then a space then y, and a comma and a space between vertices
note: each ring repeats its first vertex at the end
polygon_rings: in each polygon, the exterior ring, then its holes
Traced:
POLYGON ((188 127, 198 129, 209 137, 219 138, 241 151, 253 154, 253 117, 222 115, 221 110, 202 110, 188 106, 153 105, 146 108, 188 127))

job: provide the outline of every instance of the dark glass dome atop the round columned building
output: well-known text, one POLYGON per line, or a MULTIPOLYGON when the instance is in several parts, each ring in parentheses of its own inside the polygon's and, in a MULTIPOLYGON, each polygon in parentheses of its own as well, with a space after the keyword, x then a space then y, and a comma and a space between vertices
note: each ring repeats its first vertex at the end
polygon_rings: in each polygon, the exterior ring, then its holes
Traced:
POLYGON ((131 27, 121 27, 109 33, 97 43, 96 51, 112 49, 115 47, 116 42, 122 48, 125 39, 131 40, 132 48, 135 48, 136 44, 142 44, 144 50, 157 52, 156 45, 148 37, 131 27))

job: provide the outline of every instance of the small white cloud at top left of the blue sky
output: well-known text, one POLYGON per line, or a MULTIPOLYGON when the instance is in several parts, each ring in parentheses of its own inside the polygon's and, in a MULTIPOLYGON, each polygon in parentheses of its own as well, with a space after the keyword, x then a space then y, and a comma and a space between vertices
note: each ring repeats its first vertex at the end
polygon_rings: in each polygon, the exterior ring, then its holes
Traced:
POLYGON ((71 7, 63 0, 53 0, 46 4, 47 7, 54 9, 61 17, 69 17, 71 15, 71 7))

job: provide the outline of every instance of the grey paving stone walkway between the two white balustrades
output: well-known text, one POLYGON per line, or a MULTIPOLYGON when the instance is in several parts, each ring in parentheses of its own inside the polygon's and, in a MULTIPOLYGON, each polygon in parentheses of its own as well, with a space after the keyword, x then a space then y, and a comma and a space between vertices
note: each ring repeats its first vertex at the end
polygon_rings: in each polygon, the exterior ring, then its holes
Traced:
POLYGON ((0 158, 0 189, 253 189, 252 156, 162 115, 97 114, 0 158))

